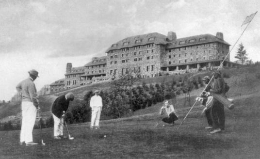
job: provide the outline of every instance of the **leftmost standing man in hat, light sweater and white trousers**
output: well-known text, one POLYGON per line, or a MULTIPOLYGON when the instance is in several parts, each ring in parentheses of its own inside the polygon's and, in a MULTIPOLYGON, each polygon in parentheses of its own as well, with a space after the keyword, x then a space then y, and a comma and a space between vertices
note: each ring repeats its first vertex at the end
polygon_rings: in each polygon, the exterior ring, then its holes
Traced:
POLYGON ((28 72, 29 78, 21 81, 16 90, 22 97, 22 127, 20 135, 20 144, 27 146, 36 145, 33 143, 33 126, 36 119, 36 113, 40 111, 38 95, 33 81, 39 77, 36 70, 28 72))

